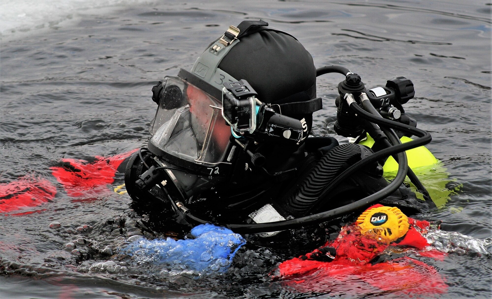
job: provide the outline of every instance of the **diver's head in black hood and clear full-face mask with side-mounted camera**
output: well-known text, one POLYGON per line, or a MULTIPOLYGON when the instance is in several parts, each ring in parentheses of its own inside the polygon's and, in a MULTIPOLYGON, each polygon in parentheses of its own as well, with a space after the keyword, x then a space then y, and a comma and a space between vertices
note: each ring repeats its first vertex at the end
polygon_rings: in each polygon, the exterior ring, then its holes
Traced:
POLYGON ((261 20, 230 26, 190 71, 154 86, 149 153, 135 155, 125 182, 164 183, 187 200, 245 171, 271 173, 309 134, 315 98, 316 68, 295 37, 261 20))

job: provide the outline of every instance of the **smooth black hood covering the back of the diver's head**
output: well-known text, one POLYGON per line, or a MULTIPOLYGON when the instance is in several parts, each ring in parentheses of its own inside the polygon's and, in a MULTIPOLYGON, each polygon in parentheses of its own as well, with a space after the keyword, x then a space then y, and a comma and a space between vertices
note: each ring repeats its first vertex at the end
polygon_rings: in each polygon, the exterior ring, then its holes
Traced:
POLYGON ((240 38, 218 67, 246 79, 265 103, 316 98, 316 68, 309 52, 294 37, 262 30, 240 38))

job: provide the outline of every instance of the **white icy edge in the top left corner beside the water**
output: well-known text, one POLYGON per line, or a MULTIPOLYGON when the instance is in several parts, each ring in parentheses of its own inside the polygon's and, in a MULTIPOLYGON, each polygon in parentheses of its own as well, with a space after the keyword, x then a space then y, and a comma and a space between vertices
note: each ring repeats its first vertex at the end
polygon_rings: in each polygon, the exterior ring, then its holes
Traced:
POLYGON ((41 29, 55 28, 77 19, 91 9, 119 9, 147 0, 2 0, 0 36, 17 36, 41 29))

